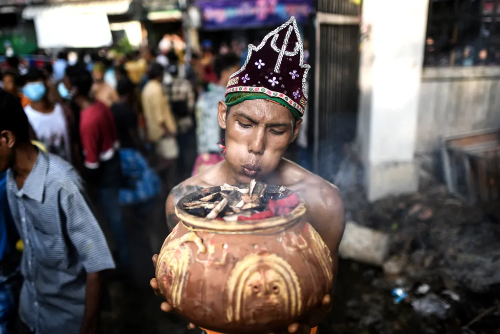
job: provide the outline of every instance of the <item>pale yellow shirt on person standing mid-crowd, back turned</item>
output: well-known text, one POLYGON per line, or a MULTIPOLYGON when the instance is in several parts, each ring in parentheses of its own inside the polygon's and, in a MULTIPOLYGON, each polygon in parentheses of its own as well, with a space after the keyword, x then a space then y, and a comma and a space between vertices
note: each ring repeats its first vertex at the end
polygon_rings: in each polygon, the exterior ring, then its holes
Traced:
POLYGON ((165 134, 161 126, 163 123, 170 134, 177 134, 177 124, 170 110, 170 104, 158 81, 149 80, 142 89, 141 100, 149 141, 156 142, 163 137, 165 134))

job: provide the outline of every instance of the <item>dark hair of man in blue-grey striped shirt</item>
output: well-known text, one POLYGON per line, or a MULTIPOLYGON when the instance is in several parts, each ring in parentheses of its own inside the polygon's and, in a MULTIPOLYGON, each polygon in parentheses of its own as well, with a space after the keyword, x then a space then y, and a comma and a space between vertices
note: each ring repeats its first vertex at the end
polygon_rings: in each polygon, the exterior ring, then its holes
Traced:
POLYGON ((19 99, 0 89, 0 132, 10 131, 16 142, 29 142, 29 122, 19 99))

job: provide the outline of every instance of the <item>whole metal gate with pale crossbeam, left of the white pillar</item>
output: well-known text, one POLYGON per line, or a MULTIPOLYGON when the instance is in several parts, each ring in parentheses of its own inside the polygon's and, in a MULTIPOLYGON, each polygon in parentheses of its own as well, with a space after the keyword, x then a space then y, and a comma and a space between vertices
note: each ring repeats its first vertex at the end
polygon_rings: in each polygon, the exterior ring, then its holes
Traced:
POLYGON ((351 0, 318 0, 315 19, 312 167, 332 181, 345 143, 356 134, 359 6, 351 0))

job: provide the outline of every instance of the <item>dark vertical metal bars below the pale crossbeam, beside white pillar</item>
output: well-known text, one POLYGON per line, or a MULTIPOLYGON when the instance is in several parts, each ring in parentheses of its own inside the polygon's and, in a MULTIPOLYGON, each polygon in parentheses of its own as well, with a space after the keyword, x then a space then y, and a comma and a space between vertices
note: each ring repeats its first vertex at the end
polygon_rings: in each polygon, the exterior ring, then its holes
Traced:
POLYGON ((313 165, 314 172, 331 181, 342 159, 343 144, 355 136, 359 28, 321 25, 319 36, 313 165))

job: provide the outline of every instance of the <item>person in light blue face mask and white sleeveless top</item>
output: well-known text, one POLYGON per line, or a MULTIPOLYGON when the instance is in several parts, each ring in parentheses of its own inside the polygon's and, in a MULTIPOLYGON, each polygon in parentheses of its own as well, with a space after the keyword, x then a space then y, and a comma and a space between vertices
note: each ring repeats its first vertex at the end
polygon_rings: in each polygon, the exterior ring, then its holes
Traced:
POLYGON ((49 153, 73 162, 77 148, 73 148, 71 144, 74 124, 70 112, 61 104, 49 101, 46 78, 42 71, 30 68, 24 81, 22 93, 31 101, 24 107, 24 112, 36 139, 49 153))

